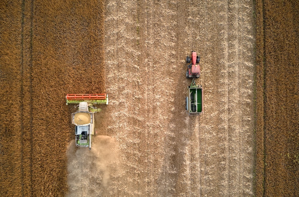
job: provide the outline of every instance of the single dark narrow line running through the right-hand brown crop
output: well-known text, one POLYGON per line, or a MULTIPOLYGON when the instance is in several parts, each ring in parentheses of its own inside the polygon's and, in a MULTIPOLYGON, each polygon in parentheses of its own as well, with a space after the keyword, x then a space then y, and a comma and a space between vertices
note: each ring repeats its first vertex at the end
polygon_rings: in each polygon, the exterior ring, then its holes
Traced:
POLYGON ((263 197, 266 195, 266 14, 265 14, 265 1, 262 0, 263 10, 263 197))

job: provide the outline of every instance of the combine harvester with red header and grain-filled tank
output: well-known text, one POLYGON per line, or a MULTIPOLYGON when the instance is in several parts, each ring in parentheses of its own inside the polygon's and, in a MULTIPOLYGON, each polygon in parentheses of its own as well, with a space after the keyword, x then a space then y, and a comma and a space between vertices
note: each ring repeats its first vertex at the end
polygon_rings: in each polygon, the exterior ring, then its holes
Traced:
POLYGON ((67 94, 66 104, 78 104, 78 111, 72 113, 72 124, 75 126, 76 146, 89 147, 91 150, 92 135, 94 135, 94 113, 102 109, 94 104, 108 105, 108 94, 67 94))

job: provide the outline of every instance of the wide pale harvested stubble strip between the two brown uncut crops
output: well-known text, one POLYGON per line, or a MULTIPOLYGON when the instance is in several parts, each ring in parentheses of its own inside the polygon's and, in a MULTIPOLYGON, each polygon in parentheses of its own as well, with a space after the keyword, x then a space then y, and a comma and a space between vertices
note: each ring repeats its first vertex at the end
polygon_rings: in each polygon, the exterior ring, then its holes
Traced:
POLYGON ((70 157, 69 195, 253 196, 253 3, 108 0, 104 16, 109 105, 97 148, 70 157), (201 116, 185 111, 192 50, 201 116), (114 159, 97 152, 107 143, 114 159))

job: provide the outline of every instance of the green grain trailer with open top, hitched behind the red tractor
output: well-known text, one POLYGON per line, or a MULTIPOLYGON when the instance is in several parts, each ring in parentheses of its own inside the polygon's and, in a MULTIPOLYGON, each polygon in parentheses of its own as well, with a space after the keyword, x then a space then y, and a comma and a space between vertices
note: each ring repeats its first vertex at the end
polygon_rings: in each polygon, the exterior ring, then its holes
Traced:
POLYGON ((203 91, 201 85, 192 84, 188 88, 186 110, 190 116, 200 115, 203 112, 203 91))

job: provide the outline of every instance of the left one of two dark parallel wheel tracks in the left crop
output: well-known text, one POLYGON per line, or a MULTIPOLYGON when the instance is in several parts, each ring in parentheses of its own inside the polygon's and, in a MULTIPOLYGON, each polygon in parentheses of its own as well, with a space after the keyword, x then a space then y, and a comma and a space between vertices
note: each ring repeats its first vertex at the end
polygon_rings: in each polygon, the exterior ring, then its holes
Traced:
POLYGON ((24 76, 24 17, 25 17, 25 0, 22 1, 21 4, 22 8, 22 15, 21 15, 21 91, 20 91, 20 96, 21 96, 21 102, 20 102, 20 111, 21 111, 21 122, 20 122, 20 129, 21 129, 21 192, 22 196, 24 196, 24 104, 23 104, 23 98, 24 98, 24 88, 23 88, 23 76, 24 76))

